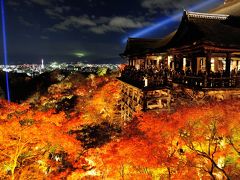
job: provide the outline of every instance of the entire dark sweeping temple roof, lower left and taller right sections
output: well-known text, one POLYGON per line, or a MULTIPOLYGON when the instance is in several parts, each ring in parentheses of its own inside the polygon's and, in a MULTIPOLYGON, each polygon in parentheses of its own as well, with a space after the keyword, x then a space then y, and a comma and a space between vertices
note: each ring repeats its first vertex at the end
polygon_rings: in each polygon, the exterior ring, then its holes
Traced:
POLYGON ((240 0, 232 0, 212 12, 184 11, 176 31, 163 39, 129 38, 122 55, 144 56, 196 44, 240 50, 240 0), (223 14, 216 14, 219 12, 223 14))

